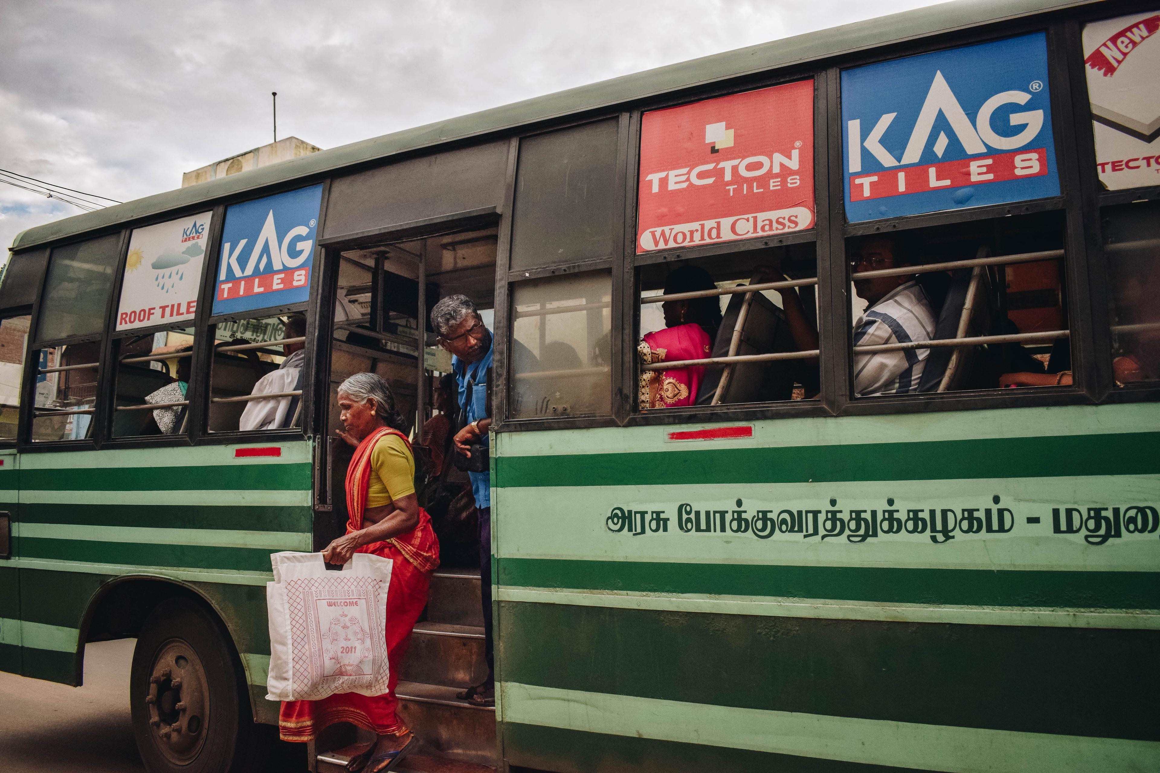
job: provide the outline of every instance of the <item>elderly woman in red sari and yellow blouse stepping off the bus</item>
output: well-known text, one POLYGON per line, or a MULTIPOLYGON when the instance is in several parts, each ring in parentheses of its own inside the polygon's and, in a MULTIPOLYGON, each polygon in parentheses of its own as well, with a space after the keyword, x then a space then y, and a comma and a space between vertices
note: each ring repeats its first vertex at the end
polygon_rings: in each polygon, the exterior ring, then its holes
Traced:
POLYGON ((322 552, 328 563, 346 563, 355 553, 391 559, 386 593, 386 651, 390 680, 385 695, 339 693, 319 701, 282 703, 283 741, 311 741, 325 727, 349 722, 378 738, 348 764, 350 771, 391 771, 412 745, 411 730, 396 714, 394 686, 411 643, 411 629, 427 605, 430 574, 438 567, 438 542, 430 518, 415 497, 415 461, 400 431, 394 395, 375 373, 356 373, 339 386, 339 408, 355 446, 347 469, 347 533, 322 552))

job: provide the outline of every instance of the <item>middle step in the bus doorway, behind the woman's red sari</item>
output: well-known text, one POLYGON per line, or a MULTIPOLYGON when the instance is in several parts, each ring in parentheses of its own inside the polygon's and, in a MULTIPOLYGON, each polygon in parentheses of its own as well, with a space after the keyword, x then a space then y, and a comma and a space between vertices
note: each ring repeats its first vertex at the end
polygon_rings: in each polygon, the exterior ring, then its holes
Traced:
POLYGON ((483 627, 420 622, 411 635, 399 676, 406 681, 461 690, 479 684, 487 678, 483 627))

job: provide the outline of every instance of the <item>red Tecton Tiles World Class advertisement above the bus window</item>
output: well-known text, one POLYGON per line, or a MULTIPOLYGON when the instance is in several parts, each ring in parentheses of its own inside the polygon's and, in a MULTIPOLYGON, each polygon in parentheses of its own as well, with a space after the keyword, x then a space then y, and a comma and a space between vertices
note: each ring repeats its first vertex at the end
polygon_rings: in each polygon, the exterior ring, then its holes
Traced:
POLYGON ((646 112, 637 251, 813 226, 813 81, 646 112))

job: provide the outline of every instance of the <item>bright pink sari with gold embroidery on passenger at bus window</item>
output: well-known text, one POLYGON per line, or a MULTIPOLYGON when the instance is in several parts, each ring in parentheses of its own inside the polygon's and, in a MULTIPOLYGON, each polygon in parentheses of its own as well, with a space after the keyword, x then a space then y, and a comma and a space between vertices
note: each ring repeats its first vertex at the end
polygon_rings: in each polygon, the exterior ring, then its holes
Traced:
MULTIPOLYGON (((637 348, 640 362, 645 365, 704 359, 711 352, 709 334, 694 322, 650 333, 637 348)), ((703 365, 674 371, 643 371, 638 395, 641 410, 694 404, 704 374, 703 365)))

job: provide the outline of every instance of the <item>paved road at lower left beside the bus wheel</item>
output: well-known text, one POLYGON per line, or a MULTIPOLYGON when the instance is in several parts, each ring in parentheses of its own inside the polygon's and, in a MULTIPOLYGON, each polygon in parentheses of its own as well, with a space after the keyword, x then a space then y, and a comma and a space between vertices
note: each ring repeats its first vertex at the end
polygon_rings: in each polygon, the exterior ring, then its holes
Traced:
POLYGON ((135 643, 89 644, 84 687, 0 673, 0 770, 144 773, 129 722, 135 643))

